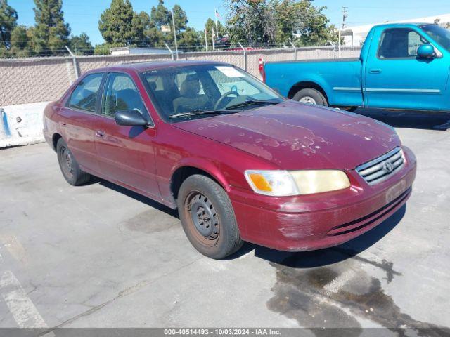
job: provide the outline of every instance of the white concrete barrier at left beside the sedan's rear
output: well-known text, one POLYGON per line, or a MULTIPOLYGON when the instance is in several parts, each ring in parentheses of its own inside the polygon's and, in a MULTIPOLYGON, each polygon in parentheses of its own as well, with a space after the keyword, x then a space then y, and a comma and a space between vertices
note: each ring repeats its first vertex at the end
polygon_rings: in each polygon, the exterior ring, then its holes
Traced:
POLYGON ((0 108, 0 148, 44 142, 42 114, 48 102, 0 108))

